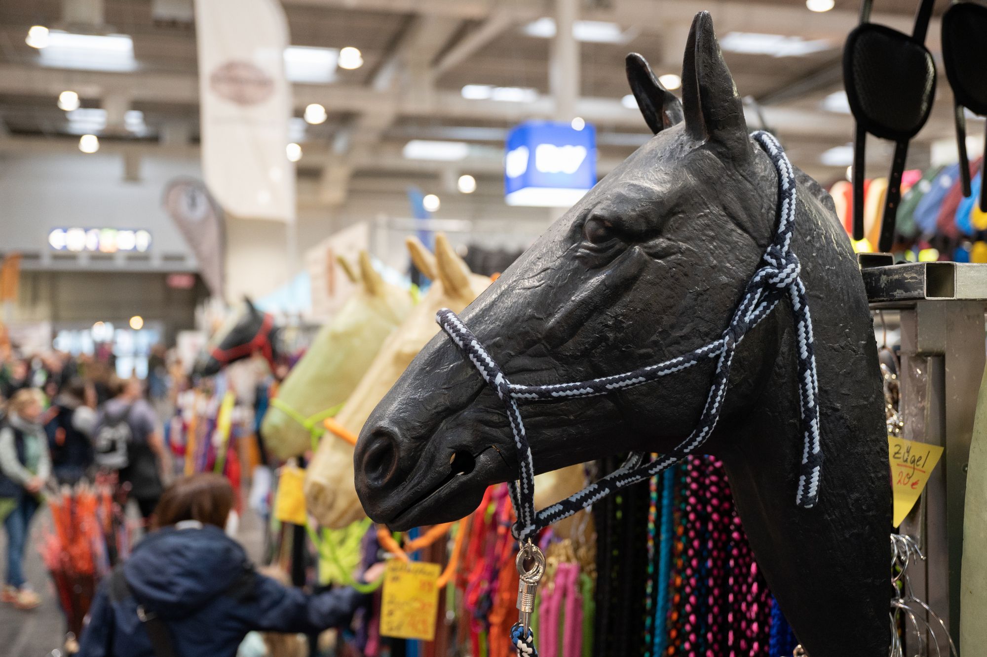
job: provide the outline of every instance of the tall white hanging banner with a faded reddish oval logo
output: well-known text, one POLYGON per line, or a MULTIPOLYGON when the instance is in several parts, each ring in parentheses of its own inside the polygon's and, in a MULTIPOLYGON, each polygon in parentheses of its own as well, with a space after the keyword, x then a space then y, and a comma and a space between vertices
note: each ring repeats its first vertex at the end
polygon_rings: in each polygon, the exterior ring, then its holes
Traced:
POLYGON ((202 172, 241 218, 295 219, 288 27, 276 0, 195 0, 202 172))

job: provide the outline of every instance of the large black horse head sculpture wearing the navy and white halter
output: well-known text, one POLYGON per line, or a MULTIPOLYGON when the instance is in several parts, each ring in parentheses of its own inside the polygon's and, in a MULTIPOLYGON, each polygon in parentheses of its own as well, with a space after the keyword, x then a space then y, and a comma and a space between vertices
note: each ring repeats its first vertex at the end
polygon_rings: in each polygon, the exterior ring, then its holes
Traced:
MULTIPOLYGON (((681 108, 643 59, 630 57, 628 72, 655 135, 462 314, 514 383, 635 370, 712 342, 774 235, 777 173, 748 136, 710 15, 693 22, 681 108)), ((832 200, 796 175, 792 250, 815 325, 819 502, 795 504, 802 440, 788 301, 737 348, 704 451, 722 459, 758 562, 809 654, 883 656, 891 505, 871 315, 832 200)), ((714 367, 522 403, 536 470, 670 451, 696 426, 714 367)), ((518 471, 503 403, 441 333, 364 425, 354 466, 368 515, 395 530, 461 518, 518 471)))

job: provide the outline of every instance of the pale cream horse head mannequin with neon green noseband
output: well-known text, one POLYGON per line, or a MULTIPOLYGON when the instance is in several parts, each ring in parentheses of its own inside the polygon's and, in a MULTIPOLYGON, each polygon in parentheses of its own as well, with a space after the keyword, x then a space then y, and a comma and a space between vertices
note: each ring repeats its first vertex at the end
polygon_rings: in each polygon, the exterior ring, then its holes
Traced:
POLYGON ((266 446, 278 458, 310 449, 311 428, 300 420, 318 422, 319 414, 346 400, 384 340, 413 306, 407 290, 384 282, 366 251, 360 251, 358 269, 342 256, 339 263, 356 289, 281 382, 278 401, 264 418, 266 446))

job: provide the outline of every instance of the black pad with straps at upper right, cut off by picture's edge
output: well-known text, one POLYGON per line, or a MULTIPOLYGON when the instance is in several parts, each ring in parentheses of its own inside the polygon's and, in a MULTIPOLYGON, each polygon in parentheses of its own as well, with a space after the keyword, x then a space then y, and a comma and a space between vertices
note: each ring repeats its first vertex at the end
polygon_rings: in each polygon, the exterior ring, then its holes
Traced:
MULTIPOLYGON (((960 2, 943 15, 943 63, 952 87, 956 146, 963 196, 970 196, 970 164, 966 156, 966 120, 963 108, 987 115, 987 7, 960 2)), ((980 187, 980 209, 987 209, 987 186, 980 187)))

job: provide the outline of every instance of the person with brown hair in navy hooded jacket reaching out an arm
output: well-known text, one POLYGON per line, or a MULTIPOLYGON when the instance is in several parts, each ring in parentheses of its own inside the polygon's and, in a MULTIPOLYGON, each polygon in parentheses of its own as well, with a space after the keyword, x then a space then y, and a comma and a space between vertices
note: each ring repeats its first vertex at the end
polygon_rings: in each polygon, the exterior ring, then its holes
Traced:
MULTIPOLYGON (((259 574, 223 531, 232 506, 233 488, 219 474, 194 474, 165 491, 159 529, 101 583, 78 657, 234 657, 251 630, 348 624, 367 597, 352 588, 310 596, 259 574)), ((380 572, 377 564, 364 578, 380 572)))

